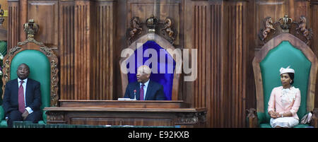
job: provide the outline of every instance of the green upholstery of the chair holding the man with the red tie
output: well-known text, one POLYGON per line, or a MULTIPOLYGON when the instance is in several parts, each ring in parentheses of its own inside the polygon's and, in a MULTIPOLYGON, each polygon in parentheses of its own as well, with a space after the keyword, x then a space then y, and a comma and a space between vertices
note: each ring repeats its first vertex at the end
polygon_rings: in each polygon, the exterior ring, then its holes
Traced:
MULTIPOLYGON (((41 109, 43 109, 44 107, 49 107, 51 76, 49 60, 47 59, 45 54, 37 50, 23 50, 22 52, 19 52, 18 54, 16 54, 15 57, 13 57, 11 61, 11 80, 17 78, 16 71, 18 69, 18 66, 22 63, 28 64, 28 66, 30 67, 29 78, 40 82, 42 95, 41 109)), ((46 123, 45 112, 43 112, 42 117, 43 121, 41 123, 46 123)))

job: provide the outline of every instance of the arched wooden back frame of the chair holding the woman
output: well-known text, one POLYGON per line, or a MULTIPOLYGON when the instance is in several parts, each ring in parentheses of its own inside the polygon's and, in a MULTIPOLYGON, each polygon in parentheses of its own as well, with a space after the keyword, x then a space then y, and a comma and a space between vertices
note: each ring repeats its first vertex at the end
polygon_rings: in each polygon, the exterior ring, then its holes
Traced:
POLYGON ((290 44, 293 45, 293 47, 300 49, 300 51, 302 51, 302 53, 305 54, 305 57, 307 57, 307 59, 310 60, 310 62, 312 62, 307 89, 307 111, 314 109, 314 92, 318 69, 317 57, 314 54, 314 52, 312 52, 312 49, 310 49, 310 47, 308 47, 308 45, 306 45, 305 42, 302 42, 302 40, 298 39, 294 35, 290 35, 289 33, 282 33, 281 35, 278 35, 273 39, 269 40, 269 42, 267 42, 263 47, 261 47, 261 49, 259 50, 259 52, 257 52, 252 62, 257 93, 257 112, 264 112, 264 91, 259 63, 266 57, 266 55, 271 49, 277 47, 284 40, 289 41, 290 44))

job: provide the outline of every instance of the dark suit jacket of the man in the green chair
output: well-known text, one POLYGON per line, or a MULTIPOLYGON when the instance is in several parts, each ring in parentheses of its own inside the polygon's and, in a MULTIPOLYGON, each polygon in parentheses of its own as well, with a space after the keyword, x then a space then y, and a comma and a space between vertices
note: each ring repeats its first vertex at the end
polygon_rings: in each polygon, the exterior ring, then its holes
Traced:
MULTIPOLYGON (((4 90, 4 112, 10 113, 12 110, 18 110, 18 78, 8 81, 4 90)), ((40 83, 28 78, 25 90, 26 107, 33 111, 40 110, 42 104, 40 83)))

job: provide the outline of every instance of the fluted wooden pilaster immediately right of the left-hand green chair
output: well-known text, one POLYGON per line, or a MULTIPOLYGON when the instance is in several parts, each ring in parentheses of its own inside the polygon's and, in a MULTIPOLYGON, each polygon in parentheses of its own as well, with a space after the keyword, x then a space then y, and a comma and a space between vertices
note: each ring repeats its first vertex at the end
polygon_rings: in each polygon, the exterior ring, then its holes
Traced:
POLYGON ((74 43, 74 5, 73 1, 61 1, 59 8, 59 52, 60 60, 60 88, 61 99, 73 100, 75 98, 75 43, 74 43))

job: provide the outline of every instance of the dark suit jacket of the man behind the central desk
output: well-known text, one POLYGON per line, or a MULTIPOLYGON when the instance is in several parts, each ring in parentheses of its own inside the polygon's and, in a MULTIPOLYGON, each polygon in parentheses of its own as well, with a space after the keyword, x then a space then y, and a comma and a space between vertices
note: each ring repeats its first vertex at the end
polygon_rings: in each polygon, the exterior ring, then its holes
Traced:
MULTIPOLYGON (((136 90, 136 100, 139 100, 140 83, 129 83, 126 87, 124 98, 134 99, 134 90, 136 90)), ((155 81, 149 81, 145 100, 165 100, 165 93, 163 93, 163 85, 155 81)))

